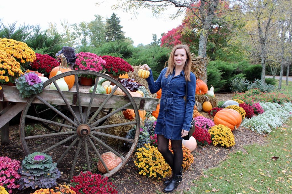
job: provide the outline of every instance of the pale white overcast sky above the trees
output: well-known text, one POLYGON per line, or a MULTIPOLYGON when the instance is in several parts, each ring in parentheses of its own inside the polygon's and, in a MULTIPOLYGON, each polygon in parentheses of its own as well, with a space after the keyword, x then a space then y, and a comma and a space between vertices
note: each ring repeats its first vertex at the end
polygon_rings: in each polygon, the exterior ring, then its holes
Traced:
MULTIPOLYGON (((98 0, 83 1, 36 1, 36 0, 10 0, 1 1, 0 18, 4 25, 17 21, 17 24, 40 24, 41 29, 48 28, 48 23, 56 23, 60 27, 60 20, 67 20, 69 24, 79 23, 81 21, 89 22, 93 20, 95 14, 102 17, 110 17, 112 13, 116 13, 120 18, 120 25, 123 26, 122 31, 126 37, 131 37, 134 45, 142 43, 147 45, 152 41, 152 34, 157 34, 160 38, 161 33, 167 32, 179 24, 182 17, 175 20, 155 18, 152 16, 151 10, 142 10, 135 18, 130 13, 123 13, 122 10, 111 10, 111 6, 117 0, 105 1, 101 6, 96 6, 98 0), (74 3, 72 3, 74 2, 74 3)), ((169 14, 175 13, 175 7, 167 11, 169 14)))

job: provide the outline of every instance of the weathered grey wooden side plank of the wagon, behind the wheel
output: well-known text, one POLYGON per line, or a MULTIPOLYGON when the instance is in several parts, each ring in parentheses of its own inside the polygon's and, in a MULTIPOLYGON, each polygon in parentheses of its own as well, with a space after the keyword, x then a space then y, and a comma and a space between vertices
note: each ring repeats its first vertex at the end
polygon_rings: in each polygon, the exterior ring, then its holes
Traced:
MULTIPOLYGON (((27 102, 27 98, 22 98, 19 96, 18 90, 15 88, 15 86, 2 86, 4 88, 3 92, 3 101, 7 102, 27 102)), ((86 92, 89 90, 89 86, 86 87, 80 87, 80 98, 81 98, 81 106, 89 106, 89 101, 91 98, 91 93, 86 92)), ((65 98, 67 99, 68 103, 70 105, 73 105, 73 95, 76 94, 76 88, 73 87, 70 91, 63 91, 65 98)), ((39 94, 41 98, 43 98, 46 102, 50 104, 59 104, 59 105, 66 105, 62 97, 60 96, 59 92, 57 90, 48 90, 44 89, 43 92, 39 94)), ((92 107, 99 107, 102 102, 106 99, 108 95, 107 94, 95 94, 92 107)), ((141 99, 145 99, 143 110, 146 111, 155 111, 156 106, 158 104, 158 99, 155 98, 138 98, 133 97, 135 100, 135 103, 137 107, 140 107, 140 101, 141 99)), ((127 96, 119 96, 119 95, 113 95, 109 101, 105 104, 104 108, 119 108, 125 104, 127 104, 129 101, 127 96)), ((35 104, 42 104, 41 101, 38 99, 34 99, 32 103, 35 104)), ((132 106, 128 106, 126 108, 133 108, 132 106)))

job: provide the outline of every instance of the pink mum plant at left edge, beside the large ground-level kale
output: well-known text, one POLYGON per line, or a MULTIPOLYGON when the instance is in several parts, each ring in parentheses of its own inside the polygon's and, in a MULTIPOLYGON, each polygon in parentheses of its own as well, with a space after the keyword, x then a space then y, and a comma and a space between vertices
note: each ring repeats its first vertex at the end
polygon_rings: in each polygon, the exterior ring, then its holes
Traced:
POLYGON ((20 179, 20 175, 17 172, 19 168, 20 161, 11 160, 7 156, 0 157, 0 186, 7 188, 8 193, 12 193, 13 188, 19 188, 16 183, 16 180, 20 179))

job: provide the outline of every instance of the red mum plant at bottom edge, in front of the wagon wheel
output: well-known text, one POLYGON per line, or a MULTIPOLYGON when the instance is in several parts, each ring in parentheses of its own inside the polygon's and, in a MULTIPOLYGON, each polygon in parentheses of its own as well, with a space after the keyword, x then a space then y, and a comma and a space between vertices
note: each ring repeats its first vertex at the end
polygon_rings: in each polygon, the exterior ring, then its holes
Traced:
POLYGON ((78 176, 73 176, 71 179, 70 189, 76 194, 91 194, 91 193, 118 193, 112 182, 108 181, 107 177, 102 177, 99 174, 86 171, 78 176))

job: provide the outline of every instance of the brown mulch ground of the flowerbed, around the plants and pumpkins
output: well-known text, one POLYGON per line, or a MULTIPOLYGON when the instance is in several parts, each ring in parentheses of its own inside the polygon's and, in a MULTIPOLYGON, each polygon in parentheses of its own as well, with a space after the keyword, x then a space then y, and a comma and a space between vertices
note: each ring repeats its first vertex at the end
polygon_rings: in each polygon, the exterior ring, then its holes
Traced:
MULTIPOLYGON (((216 94, 216 97, 218 101, 232 99, 231 94, 216 94)), ((207 113, 202 114, 206 118, 212 119, 207 113)), ((176 193, 188 190, 193 186, 192 180, 199 178, 203 174, 204 169, 216 167, 221 161, 226 159, 228 154, 239 150, 241 152, 246 152, 243 148, 245 145, 265 143, 265 138, 263 136, 255 134, 244 127, 239 127, 233 134, 236 144, 231 148, 207 145, 204 147, 197 147, 195 151, 192 152, 194 163, 188 170, 183 171, 183 181, 176 189, 176 193)), ((1 145, 0 156, 8 156, 11 159, 20 161, 25 157, 18 137, 18 126, 10 127, 10 144, 1 145)), ((131 158, 117 173, 109 177, 109 180, 117 186, 117 191, 119 193, 162 193, 162 189, 164 188, 163 180, 139 175, 133 164, 133 158, 131 158)), ((29 194, 33 191, 26 189, 24 191, 14 190, 14 192, 29 194)))

